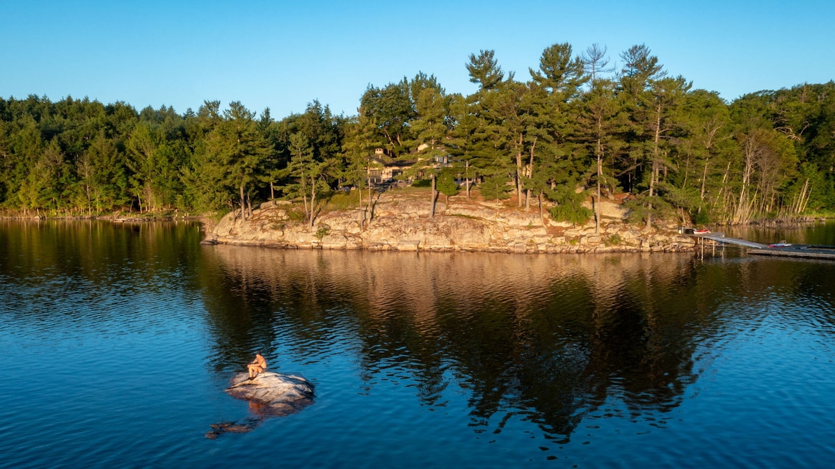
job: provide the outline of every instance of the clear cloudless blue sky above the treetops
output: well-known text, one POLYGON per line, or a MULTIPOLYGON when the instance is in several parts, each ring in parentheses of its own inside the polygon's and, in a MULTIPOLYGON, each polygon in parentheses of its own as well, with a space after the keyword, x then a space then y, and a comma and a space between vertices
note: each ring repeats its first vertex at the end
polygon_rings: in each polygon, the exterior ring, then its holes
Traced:
POLYGON ((72 96, 178 113, 218 99, 281 119, 318 99, 355 114, 369 84, 417 72, 473 93, 470 53, 529 79, 544 48, 644 43, 731 101, 835 79, 835 2, 0 0, 0 96, 72 96))

